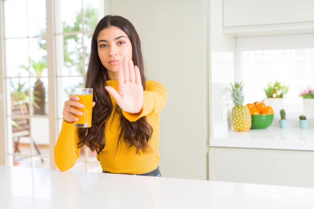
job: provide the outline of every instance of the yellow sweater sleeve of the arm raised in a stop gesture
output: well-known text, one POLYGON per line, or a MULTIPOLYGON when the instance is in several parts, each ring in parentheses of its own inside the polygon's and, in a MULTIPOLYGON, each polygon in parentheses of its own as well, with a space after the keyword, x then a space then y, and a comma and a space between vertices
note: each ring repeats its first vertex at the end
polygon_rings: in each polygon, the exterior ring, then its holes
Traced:
POLYGON ((146 81, 145 91, 143 91, 143 108, 139 113, 129 113, 122 110, 122 114, 127 120, 137 121, 143 116, 151 116, 160 112, 166 104, 168 97, 167 89, 157 81, 146 81))

